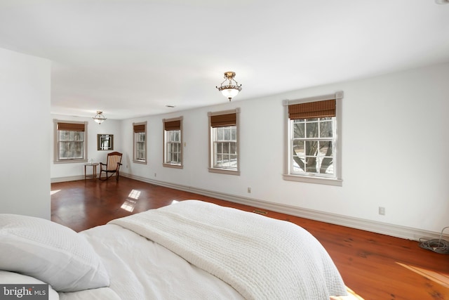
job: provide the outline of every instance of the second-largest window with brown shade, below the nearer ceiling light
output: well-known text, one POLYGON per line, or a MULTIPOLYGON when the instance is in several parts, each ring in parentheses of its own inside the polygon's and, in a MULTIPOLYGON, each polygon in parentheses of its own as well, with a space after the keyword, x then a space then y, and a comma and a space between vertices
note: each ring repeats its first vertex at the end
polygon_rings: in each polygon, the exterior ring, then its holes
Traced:
POLYGON ((240 109, 209 112, 209 171, 240 175, 240 109))

